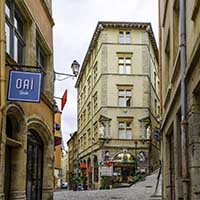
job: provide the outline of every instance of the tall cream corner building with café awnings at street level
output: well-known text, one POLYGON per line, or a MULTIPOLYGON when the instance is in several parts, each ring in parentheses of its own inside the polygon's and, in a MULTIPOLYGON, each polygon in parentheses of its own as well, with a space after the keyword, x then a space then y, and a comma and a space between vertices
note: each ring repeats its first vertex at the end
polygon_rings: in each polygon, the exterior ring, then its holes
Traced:
POLYGON ((157 56, 151 24, 97 24, 76 83, 77 160, 88 188, 99 188, 102 176, 117 185, 158 168, 157 56))

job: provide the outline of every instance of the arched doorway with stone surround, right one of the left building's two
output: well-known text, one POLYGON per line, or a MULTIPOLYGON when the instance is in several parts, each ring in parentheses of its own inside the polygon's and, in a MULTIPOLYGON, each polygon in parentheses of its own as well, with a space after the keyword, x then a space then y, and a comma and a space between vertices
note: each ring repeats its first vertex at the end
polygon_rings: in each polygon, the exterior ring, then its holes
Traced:
POLYGON ((27 200, 52 199, 53 135, 45 121, 27 119, 26 195, 27 200), (31 152, 35 152, 35 155, 31 152), (30 170, 32 172, 30 172, 30 170), (35 180, 36 179, 36 180, 35 180), (50 186, 51 184, 51 186, 50 186), (50 188, 51 191, 46 190, 50 188))

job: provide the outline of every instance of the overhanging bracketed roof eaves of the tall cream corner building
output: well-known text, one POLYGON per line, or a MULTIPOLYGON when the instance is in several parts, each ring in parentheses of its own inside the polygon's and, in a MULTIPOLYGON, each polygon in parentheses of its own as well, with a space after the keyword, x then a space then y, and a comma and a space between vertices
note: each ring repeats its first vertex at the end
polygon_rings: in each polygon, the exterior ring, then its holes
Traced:
POLYGON ((78 84, 80 83, 80 79, 82 77, 82 74, 84 72, 85 66, 88 62, 88 59, 90 57, 90 54, 92 53, 92 50, 94 49, 94 47, 96 46, 97 40, 99 38, 99 35, 101 33, 101 31, 104 28, 134 28, 134 29, 145 29, 147 31, 147 33, 149 34, 154 52, 155 52, 155 56, 156 59, 158 60, 158 48, 157 48, 157 44, 156 44, 156 40, 154 37, 154 33, 152 30, 152 26, 150 22, 113 22, 113 21, 99 21, 96 29, 94 31, 94 34, 92 36, 92 40, 89 44, 86 56, 83 60, 82 63, 82 67, 81 67, 81 71, 79 73, 77 82, 75 87, 77 88, 78 84))

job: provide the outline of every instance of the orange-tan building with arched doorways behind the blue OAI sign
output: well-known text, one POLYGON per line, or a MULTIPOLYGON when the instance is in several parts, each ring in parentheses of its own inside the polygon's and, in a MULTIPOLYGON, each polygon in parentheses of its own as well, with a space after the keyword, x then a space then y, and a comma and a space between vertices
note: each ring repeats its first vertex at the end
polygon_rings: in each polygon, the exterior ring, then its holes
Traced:
POLYGON ((0 199, 53 199, 51 0, 0 1, 0 199), (10 70, 42 71, 39 103, 8 101, 10 70))

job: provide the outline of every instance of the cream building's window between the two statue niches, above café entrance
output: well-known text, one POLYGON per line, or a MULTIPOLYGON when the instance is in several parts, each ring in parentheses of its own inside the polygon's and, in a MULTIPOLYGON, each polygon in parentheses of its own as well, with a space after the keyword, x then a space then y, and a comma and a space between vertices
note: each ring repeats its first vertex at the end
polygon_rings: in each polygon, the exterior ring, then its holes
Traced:
POLYGON ((118 122, 119 139, 132 139, 132 121, 120 120, 118 122))

